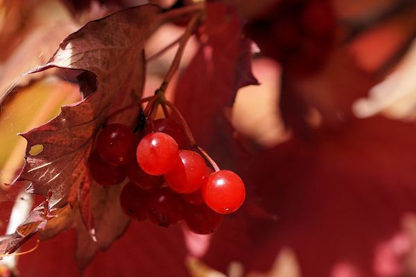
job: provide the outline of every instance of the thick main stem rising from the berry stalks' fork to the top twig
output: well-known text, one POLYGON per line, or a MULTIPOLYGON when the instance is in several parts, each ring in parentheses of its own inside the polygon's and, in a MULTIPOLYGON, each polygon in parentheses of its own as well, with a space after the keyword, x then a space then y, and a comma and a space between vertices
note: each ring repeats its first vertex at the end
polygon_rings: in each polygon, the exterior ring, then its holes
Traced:
POLYGON ((200 19, 200 13, 193 15, 193 17, 189 21, 187 29, 185 30, 185 33, 182 35, 182 37, 180 37, 179 47, 177 48, 176 55, 173 58, 171 67, 169 68, 168 73, 166 73, 164 81, 162 82, 162 85, 160 86, 160 91, 163 91, 163 92, 166 91, 166 87, 168 87, 168 84, 171 81, 173 75, 175 75, 177 69, 179 68, 180 60, 182 59, 185 46, 187 46, 187 42, 189 41, 189 38, 191 38, 191 36, 193 35, 193 31, 195 30, 199 19, 200 19))

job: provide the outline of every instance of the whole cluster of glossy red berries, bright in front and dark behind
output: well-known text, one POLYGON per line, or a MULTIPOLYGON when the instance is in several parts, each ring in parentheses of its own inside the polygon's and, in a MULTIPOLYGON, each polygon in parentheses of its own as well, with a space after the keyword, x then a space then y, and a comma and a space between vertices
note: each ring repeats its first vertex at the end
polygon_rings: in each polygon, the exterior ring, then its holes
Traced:
POLYGON ((184 220, 195 233, 212 233, 223 214, 245 199, 234 172, 207 166, 191 148, 182 127, 170 118, 148 120, 144 136, 110 124, 98 135, 89 171, 98 184, 111 186, 128 177, 121 192, 123 211, 135 220, 168 227, 184 220))

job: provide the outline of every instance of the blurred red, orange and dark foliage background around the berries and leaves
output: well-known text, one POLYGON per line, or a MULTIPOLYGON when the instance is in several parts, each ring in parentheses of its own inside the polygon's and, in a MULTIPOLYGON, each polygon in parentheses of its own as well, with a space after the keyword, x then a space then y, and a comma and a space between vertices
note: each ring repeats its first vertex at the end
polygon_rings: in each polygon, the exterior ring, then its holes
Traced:
MULTIPOLYGON (((17 134, 81 99, 78 85, 53 71, 19 76, 87 21, 149 2, 168 9, 193 1, 0 0, 3 232, 15 200, 27 197, 22 186, 3 185, 24 163, 17 134)), ((243 153, 233 161, 248 184, 243 211, 211 237, 132 223, 85 276, 416 276, 416 1, 223 2, 246 23, 260 82, 223 111, 243 153)), ((146 56, 183 31, 159 28, 146 56)), ((197 48, 191 39, 180 71, 197 48)), ((159 87, 175 50, 147 64, 144 96, 159 87)), ((214 157, 230 162, 221 151, 214 157)), ((3 262, 3 275, 13 267, 21 276, 76 276, 74 239, 69 230, 41 242, 3 262)))

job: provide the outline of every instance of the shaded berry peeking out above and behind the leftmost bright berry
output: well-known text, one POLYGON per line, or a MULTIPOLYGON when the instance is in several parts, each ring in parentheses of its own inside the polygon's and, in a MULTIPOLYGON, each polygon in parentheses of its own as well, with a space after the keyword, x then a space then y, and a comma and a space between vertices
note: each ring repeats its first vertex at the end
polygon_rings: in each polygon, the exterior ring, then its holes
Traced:
POLYGON ((187 136, 184 130, 179 124, 170 118, 159 118, 153 121, 153 125, 147 125, 146 132, 162 132, 168 134, 176 141, 179 149, 183 149, 187 146, 187 136))

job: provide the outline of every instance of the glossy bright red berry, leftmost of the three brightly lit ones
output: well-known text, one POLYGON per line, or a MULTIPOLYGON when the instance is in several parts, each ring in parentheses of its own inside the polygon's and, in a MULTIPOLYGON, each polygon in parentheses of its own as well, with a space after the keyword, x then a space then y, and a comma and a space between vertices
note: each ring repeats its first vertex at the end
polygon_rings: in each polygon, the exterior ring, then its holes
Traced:
POLYGON ((179 150, 171 136, 155 132, 141 139, 136 154, 137 162, 144 172, 150 175, 162 175, 175 166, 179 150))

